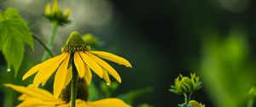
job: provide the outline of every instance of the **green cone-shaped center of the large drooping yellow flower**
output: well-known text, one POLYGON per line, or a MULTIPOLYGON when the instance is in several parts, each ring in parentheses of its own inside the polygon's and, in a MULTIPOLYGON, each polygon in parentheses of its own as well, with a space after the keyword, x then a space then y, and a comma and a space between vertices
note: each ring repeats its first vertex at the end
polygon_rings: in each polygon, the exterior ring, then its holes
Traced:
POLYGON ((79 32, 73 31, 68 37, 66 44, 61 48, 61 53, 75 53, 76 51, 88 51, 87 46, 79 32))

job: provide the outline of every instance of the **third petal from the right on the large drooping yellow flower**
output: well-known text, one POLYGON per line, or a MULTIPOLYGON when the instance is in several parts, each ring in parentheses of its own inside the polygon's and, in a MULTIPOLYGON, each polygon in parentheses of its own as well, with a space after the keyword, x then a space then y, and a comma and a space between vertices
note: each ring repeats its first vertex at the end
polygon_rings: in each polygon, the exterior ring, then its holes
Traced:
POLYGON ((102 78, 103 76, 102 67, 98 65, 94 59, 91 59, 90 56, 88 56, 86 53, 79 52, 79 54, 84 59, 84 63, 88 65, 90 69, 96 73, 96 75, 102 78))

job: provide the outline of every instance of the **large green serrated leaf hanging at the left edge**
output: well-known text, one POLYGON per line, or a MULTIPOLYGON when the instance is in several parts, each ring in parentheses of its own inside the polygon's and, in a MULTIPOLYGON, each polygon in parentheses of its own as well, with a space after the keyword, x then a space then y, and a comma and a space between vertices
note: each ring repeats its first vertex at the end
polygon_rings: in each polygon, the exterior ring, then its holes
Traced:
POLYGON ((8 67, 13 66, 15 75, 20 69, 25 44, 33 50, 33 39, 26 22, 15 8, 0 12, 0 51, 3 51, 8 67))

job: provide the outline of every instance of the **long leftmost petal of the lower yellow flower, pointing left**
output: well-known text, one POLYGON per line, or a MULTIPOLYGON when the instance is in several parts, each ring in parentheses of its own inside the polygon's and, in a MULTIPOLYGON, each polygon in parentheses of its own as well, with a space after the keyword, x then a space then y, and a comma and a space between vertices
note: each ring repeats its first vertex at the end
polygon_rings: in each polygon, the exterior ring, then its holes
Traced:
POLYGON ((50 100, 54 99, 51 93, 46 90, 40 89, 38 87, 21 87, 15 86, 12 84, 4 84, 5 87, 10 87, 19 93, 26 94, 32 98, 42 99, 42 100, 50 100))

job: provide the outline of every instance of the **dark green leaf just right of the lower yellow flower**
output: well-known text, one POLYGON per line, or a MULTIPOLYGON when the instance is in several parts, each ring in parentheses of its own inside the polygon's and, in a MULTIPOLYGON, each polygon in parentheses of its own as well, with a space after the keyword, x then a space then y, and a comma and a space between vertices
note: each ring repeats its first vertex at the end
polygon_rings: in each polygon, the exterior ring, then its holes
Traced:
POLYGON ((152 92, 152 87, 143 87, 128 93, 121 94, 118 96, 118 98, 123 99, 127 104, 132 104, 133 101, 136 100, 138 97, 150 92, 152 92))

